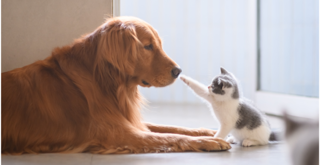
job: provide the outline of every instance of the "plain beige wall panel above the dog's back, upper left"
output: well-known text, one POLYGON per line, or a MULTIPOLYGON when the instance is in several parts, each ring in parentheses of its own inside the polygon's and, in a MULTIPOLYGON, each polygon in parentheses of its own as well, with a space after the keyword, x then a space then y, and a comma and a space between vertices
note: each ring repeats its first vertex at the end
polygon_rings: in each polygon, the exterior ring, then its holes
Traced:
POLYGON ((112 0, 1 0, 1 72, 45 59, 111 14, 112 0))

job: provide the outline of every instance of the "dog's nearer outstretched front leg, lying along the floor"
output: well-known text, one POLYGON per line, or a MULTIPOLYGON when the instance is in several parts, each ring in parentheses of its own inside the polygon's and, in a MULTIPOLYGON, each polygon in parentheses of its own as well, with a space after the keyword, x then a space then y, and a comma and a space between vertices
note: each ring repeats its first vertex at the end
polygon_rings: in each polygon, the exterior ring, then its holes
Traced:
MULTIPOLYGON (((181 152, 181 151, 219 151, 230 149, 231 146, 221 138, 208 136, 186 136, 172 133, 130 132, 118 139, 119 145, 113 148, 101 148, 94 153, 150 153, 150 152, 181 152)), ((110 146, 110 145, 108 145, 110 146)))

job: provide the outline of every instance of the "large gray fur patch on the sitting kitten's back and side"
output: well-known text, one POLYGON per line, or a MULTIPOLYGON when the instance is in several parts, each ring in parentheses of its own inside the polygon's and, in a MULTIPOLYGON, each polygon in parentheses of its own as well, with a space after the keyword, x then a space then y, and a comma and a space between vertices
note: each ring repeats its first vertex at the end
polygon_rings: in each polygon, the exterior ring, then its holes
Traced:
POLYGON ((247 127, 253 130, 262 124, 264 114, 254 107, 250 102, 242 101, 238 107, 239 119, 236 123, 236 129, 247 127))

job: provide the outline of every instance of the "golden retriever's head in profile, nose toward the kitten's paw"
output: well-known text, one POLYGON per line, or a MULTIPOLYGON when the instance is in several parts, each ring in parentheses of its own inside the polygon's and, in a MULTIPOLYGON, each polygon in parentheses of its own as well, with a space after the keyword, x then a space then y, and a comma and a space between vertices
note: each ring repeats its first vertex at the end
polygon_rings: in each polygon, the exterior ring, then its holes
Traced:
POLYGON ((131 83, 141 86, 166 86, 181 72, 163 51, 161 39, 151 25, 136 17, 114 17, 100 28, 97 53, 131 83))

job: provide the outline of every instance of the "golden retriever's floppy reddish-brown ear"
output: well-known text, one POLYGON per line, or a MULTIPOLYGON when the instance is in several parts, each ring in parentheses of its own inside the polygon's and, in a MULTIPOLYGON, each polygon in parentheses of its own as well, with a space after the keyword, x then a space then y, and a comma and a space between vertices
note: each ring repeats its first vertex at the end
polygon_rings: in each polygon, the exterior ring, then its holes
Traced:
POLYGON ((101 31, 97 59, 107 60, 120 72, 132 75, 141 42, 133 25, 112 23, 101 31))

